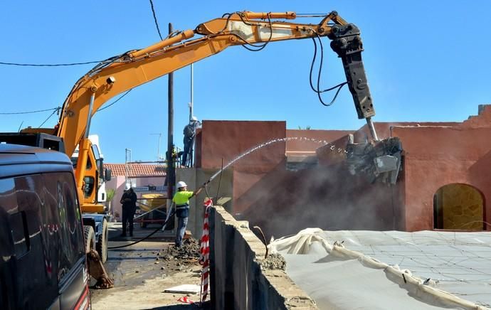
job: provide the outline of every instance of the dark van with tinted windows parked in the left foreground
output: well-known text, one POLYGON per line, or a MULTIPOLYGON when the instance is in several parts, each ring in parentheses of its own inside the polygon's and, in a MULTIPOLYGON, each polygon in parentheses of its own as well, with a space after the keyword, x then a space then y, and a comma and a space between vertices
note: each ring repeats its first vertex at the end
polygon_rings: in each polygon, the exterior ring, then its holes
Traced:
POLYGON ((88 281, 70 159, 0 144, 0 309, 90 309, 88 281))

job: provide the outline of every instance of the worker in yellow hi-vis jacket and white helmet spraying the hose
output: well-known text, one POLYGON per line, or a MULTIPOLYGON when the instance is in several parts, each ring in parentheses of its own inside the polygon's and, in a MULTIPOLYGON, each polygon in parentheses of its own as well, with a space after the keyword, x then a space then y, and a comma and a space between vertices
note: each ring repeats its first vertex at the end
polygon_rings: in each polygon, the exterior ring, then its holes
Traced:
POLYGON ((203 186, 196 189, 196 191, 188 191, 188 186, 183 181, 177 182, 177 192, 172 198, 172 206, 176 208, 177 217, 177 232, 176 232, 176 247, 182 245, 182 238, 184 232, 186 232, 186 225, 188 224, 189 217, 189 199, 196 196, 201 192, 203 186))

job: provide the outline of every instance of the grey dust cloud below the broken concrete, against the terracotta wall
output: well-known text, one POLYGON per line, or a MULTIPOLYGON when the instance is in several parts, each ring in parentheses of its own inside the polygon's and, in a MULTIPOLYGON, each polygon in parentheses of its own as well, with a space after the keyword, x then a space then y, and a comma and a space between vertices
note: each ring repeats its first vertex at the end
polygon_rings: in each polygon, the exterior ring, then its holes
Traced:
POLYGON ((254 201, 243 213, 268 236, 292 235, 304 228, 393 230, 396 190, 352 176, 343 165, 301 171, 275 169, 239 201, 254 201))

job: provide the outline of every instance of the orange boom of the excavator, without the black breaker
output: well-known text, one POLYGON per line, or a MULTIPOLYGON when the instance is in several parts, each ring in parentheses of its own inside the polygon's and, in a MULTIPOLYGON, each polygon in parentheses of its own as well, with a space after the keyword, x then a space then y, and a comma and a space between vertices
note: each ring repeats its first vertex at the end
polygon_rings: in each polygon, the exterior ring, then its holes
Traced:
MULTIPOLYGON (((336 12, 327 14, 318 24, 273 21, 278 18, 292 20, 296 14, 248 11, 230 14, 97 65, 75 83, 63 103, 55 134, 63 137, 66 154, 73 154, 86 135, 90 117, 115 95, 220 53, 229 46, 331 36, 333 26, 349 25, 336 12), (194 38, 196 35, 201 37, 194 38)), ((366 78, 363 83, 366 85, 366 78)))

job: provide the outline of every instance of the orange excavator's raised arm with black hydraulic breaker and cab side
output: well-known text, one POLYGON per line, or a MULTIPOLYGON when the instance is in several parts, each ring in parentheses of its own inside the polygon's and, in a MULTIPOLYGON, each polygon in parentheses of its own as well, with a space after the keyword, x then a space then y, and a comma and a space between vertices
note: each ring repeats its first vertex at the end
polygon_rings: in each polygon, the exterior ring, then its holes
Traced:
POLYGON ((342 59, 347 77, 346 84, 352 93, 358 117, 366 119, 372 138, 378 140, 371 122, 375 110, 361 60, 363 46, 359 29, 354 24, 344 21, 335 11, 320 16, 322 20, 317 24, 291 22, 297 17, 299 16, 294 12, 243 11, 225 14, 221 18, 199 24, 194 30, 172 33, 163 41, 147 48, 131 50, 109 58, 96 65, 75 83, 63 103, 59 122, 54 129, 26 129, 23 132, 50 133, 62 138, 64 151, 68 156, 71 156, 77 144, 79 145, 75 178, 82 209, 97 212, 102 210, 103 206, 97 205, 96 193, 84 197, 83 188, 84 180, 97 180, 97 170, 87 169, 94 161, 88 134, 90 119, 105 102, 157 77, 220 53, 229 46, 245 46, 260 50, 265 44, 275 41, 320 39, 327 36, 331 39, 331 48, 342 59), (195 38, 197 35, 199 38, 195 38))

